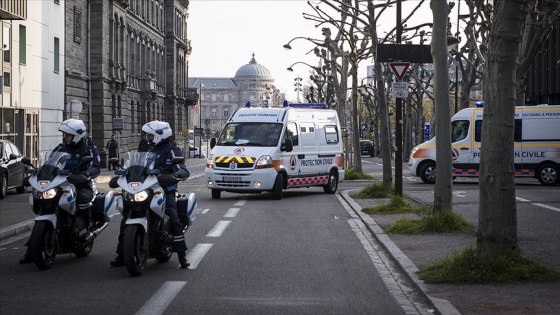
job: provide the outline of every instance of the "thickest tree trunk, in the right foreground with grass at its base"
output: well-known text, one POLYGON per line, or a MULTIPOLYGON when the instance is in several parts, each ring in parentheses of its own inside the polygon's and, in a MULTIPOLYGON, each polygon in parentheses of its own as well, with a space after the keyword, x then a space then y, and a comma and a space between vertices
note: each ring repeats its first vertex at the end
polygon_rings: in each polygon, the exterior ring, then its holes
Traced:
POLYGON ((530 0, 496 3, 484 79, 477 250, 486 255, 516 251, 513 129, 516 71, 530 0))

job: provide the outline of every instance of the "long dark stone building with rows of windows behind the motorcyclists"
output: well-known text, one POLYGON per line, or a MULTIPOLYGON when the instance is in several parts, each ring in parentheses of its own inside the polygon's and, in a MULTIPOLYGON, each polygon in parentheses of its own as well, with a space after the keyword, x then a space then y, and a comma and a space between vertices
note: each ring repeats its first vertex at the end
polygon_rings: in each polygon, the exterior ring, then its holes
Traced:
MULTIPOLYGON (((188 0, 66 2, 66 103, 81 103, 102 151, 112 134, 136 149, 146 122, 187 128, 188 0)), ((195 91, 192 91, 195 95, 195 91)), ((76 115, 67 110, 65 118, 76 115)))

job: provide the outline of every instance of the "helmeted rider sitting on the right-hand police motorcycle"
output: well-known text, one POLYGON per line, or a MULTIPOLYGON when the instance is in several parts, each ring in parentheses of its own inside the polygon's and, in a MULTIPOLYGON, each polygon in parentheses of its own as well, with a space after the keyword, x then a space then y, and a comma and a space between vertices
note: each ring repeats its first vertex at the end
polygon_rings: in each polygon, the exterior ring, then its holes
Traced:
MULTIPOLYGON (((177 178, 187 179, 190 174, 184 163, 171 165, 173 157, 182 157, 183 154, 172 141, 173 132, 169 124, 163 121, 151 121, 142 126, 142 131, 148 135, 148 141, 150 142, 149 152, 155 154, 155 168, 167 170, 166 172, 171 172, 177 178)), ((187 261, 187 244, 183 234, 183 225, 179 221, 177 213, 177 199, 175 196, 177 184, 162 188, 165 190, 165 214, 171 220, 171 232, 173 233, 171 250, 177 253, 181 268, 186 269, 190 264, 187 261)), ((124 266, 122 240, 125 222, 126 218, 123 217, 120 226, 119 243, 117 245, 117 257, 111 261, 111 266, 113 267, 124 266)))

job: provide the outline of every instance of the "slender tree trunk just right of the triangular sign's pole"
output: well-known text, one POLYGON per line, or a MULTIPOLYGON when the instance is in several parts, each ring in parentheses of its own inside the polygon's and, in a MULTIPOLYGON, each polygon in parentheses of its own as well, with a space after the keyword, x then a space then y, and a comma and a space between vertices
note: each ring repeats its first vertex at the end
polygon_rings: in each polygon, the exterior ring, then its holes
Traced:
POLYGON ((449 104, 449 67, 447 63, 447 1, 431 0, 434 16, 432 56, 434 59, 434 90, 436 102, 436 185, 434 211, 452 209, 453 180, 451 165, 451 114, 449 104))

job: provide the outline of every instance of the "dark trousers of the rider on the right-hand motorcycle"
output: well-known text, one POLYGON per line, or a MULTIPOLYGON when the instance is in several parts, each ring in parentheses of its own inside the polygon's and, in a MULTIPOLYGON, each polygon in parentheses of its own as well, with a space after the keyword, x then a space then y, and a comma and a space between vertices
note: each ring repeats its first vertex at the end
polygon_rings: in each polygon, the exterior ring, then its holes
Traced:
MULTIPOLYGON (((179 221, 179 215, 177 214, 177 200, 175 197, 175 192, 165 193, 165 214, 169 217, 169 223, 171 227, 171 234, 173 234, 173 243, 171 245, 171 251, 173 252, 184 252, 187 250, 187 244, 185 243, 185 235, 183 234, 183 226, 179 221)), ((124 229, 126 226, 126 218, 123 217, 121 220, 121 226, 119 230, 119 243, 117 244, 117 254, 122 254, 122 240, 124 237, 124 229)))

